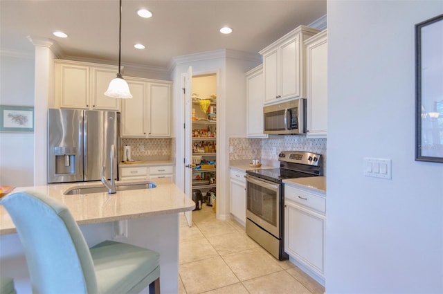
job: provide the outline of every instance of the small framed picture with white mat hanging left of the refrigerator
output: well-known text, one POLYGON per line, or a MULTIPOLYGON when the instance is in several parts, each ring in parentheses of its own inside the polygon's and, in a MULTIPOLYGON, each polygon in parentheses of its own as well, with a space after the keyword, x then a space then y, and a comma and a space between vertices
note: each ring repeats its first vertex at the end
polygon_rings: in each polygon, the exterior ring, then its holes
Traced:
POLYGON ((33 132, 34 107, 0 105, 0 131, 33 132))

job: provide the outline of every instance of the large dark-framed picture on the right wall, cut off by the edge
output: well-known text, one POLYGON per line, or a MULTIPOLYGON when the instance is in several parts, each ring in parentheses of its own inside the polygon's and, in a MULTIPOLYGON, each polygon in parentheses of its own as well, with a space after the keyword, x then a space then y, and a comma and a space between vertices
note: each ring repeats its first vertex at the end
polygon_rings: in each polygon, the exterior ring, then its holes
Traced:
POLYGON ((415 160, 443 163, 443 15, 415 25, 415 160))

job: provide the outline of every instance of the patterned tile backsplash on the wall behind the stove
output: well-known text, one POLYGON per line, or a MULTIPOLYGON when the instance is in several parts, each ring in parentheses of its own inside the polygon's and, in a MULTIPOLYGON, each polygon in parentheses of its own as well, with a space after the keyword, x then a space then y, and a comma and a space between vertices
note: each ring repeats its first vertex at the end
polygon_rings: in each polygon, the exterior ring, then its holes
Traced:
POLYGON ((276 163, 280 151, 311 151, 323 155, 326 174, 326 139, 306 138, 305 136, 273 136, 266 139, 229 138, 229 146, 234 148, 229 160, 251 160, 260 158, 264 163, 276 163))

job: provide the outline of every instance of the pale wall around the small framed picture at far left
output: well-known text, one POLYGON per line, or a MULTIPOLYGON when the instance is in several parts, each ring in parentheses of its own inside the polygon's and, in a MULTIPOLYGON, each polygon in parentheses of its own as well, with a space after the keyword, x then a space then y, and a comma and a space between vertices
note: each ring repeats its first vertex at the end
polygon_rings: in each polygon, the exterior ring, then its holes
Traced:
MULTIPOLYGON (((0 54, 0 104, 34 105, 34 57, 0 54)), ((0 185, 33 185, 34 134, 0 133, 0 185)))

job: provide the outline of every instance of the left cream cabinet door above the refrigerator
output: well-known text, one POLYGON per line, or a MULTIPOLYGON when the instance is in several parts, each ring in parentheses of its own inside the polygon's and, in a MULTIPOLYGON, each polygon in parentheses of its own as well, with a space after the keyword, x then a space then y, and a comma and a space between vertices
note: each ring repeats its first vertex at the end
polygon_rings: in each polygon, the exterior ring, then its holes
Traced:
POLYGON ((60 73, 60 83, 55 84, 55 98, 60 101, 60 107, 88 109, 89 67, 71 64, 56 66, 60 66, 55 70, 55 75, 60 73))

